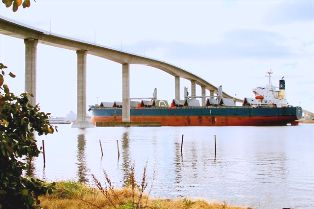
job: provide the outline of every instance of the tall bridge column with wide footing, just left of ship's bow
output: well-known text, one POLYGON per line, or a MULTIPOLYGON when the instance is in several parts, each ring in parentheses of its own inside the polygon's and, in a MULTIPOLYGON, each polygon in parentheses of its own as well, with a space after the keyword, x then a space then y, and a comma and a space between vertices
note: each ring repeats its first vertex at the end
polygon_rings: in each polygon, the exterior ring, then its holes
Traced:
POLYGON ((72 128, 91 128, 86 120, 86 51, 77 50, 77 116, 72 128))

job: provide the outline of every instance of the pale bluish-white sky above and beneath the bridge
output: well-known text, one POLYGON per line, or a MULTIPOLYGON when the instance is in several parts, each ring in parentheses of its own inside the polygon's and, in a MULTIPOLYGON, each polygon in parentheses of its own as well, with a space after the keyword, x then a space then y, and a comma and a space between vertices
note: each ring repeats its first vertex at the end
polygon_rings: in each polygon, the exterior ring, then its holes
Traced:
MULTIPOLYGON (((286 79, 289 104, 314 112, 314 1, 310 0, 36 0, 5 18, 50 33, 162 60, 238 98, 286 79)), ((0 61, 24 91, 24 42, 0 35, 0 61)), ((87 56, 87 104, 121 101, 121 64, 87 56)), ((131 97, 175 96, 174 77, 130 66, 131 97)), ((190 81, 181 79, 183 88, 190 81)), ((197 95, 201 94, 197 87, 197 95)), ((37 102, 55 116, 76 112, 76 53, 38 45, 37 102)))

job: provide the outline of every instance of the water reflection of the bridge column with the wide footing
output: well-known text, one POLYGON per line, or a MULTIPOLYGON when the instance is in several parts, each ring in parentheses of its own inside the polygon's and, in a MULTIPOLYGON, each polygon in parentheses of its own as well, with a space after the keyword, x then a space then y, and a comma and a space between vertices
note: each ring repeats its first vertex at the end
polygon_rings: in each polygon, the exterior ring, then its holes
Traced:
POLYGON ((88 169, 86 167, 86 159, 85 159, 85 148, 86 148, 86 140, 85 134, 79 134, 77 136, 77 177, 78 181, 81 183, 87 183, 87 172, 88 169))

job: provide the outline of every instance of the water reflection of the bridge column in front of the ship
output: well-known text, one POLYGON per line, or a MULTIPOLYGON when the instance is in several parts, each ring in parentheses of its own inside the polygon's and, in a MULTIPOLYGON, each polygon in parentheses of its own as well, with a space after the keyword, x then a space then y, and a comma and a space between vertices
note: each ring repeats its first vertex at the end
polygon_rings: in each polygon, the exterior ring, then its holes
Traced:
POLYGON ((122 135, 123 186, 126 186, 128 184, 129 172, 130 172, 130 142, 129 142, 129 132, 125 131, 122 135))

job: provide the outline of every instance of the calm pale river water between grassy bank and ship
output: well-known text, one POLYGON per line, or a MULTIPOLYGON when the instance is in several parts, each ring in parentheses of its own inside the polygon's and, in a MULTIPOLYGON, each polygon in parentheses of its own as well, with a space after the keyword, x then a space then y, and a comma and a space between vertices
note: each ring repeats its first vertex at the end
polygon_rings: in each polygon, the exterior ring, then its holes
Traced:
POLYGON ((152 197, 256 209, 314 208, 314 125, 58 129, 37 137, 39 145, 45 141, 46 167, 40 156, 34 173, 48 181, 93 185, 91 175, 104 182, 106 171, 120 187, 131 165, 139 180, 147 166, 152 197))

